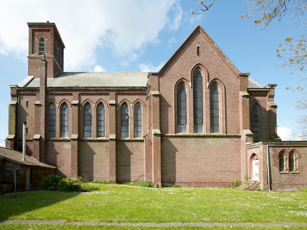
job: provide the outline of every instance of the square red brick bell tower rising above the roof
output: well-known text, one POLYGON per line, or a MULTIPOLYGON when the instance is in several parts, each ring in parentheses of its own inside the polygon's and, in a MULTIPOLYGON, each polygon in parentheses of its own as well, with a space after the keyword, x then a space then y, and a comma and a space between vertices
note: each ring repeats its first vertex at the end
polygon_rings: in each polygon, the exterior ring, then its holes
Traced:
POLYGON ((59 31, 55 23, 28 22, 29 27, 29 55, 28 76, 39 78, 40 59, 45 54, 48 63, 47 78, 52 78, 64 69, 64 48, 59 31))

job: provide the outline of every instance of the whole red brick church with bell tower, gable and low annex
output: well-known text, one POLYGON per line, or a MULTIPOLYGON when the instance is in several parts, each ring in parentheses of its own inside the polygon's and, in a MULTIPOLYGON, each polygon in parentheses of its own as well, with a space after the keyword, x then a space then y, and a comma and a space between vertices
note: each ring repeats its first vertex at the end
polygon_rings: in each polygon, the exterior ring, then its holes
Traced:
POLYGON ((21 151, 26 122, 26 154, 61 177, 307 188, 307 142, 277 135, 277 85, 240 72, 200 25, 159 72, 64 72, 56 25, 28 26, 6 148, 21 151))

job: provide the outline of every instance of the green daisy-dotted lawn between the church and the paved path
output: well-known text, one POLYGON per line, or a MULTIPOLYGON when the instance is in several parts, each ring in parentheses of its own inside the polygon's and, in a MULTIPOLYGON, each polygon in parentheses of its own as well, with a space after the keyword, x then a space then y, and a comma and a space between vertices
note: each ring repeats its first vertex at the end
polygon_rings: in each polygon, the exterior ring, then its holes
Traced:
MULTIPOLYGON (((307 222, 306 192, 269 193, 192 187, 149 189, 99 183, 90 185, 97 190, 90 193, 36 191, 0 196, 0 219, 130 223, 307 222)), ((72 226, 65 225, 58 229, 68 227, 72 226)), ((112 227, 97 226, 97 229, 112 227)))

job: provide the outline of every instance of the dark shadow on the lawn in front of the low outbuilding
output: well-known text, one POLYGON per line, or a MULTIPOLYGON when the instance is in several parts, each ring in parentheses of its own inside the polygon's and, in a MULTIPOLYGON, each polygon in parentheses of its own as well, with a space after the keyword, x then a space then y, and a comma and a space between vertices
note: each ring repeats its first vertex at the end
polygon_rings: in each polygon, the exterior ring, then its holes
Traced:
POLYGON ((73 198, 78 194, 57 191, 33 191, 2 195, 0 196, 0 219, 12 219, 14 216, 47 207, 73 198))

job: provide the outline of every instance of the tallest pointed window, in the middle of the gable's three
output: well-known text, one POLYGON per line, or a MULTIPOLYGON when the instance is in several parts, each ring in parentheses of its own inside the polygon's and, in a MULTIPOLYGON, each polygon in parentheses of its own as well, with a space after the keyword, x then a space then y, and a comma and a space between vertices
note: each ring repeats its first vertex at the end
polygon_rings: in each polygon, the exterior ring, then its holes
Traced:
POLYGON ((203 132, 203 76, 199 69, 193 74, 194 88, 194 132, 203 132))

